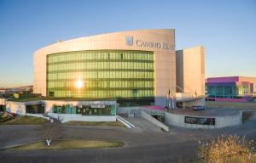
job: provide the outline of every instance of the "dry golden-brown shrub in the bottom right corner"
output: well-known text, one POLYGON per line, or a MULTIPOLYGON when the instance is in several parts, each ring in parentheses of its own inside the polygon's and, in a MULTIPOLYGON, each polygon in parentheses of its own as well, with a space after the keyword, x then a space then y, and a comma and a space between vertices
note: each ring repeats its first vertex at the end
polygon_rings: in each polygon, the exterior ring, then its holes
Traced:
POLYGON ((201 162, 207 163, 247 163, 253 162, 253 141, 245 137, 218 136, 210 142, 201 143, 199 157, 201 162))

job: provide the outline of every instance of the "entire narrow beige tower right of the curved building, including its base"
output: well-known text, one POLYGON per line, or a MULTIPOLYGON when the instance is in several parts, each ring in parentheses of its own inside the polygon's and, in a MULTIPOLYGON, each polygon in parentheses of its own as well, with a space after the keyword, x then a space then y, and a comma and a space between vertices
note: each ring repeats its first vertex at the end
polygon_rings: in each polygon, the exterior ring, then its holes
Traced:
POLYGON ((205 48, 176 51, 177 107, 205 105, 205 48))

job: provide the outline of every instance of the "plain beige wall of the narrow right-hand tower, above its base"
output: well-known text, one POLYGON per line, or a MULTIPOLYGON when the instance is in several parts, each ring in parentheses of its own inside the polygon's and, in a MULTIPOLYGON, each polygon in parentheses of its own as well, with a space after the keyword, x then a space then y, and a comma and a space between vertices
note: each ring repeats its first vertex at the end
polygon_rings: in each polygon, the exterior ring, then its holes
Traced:
POLYGON ((205 95, 204 47, 185 48, 176 52, 177 92, 205 95))

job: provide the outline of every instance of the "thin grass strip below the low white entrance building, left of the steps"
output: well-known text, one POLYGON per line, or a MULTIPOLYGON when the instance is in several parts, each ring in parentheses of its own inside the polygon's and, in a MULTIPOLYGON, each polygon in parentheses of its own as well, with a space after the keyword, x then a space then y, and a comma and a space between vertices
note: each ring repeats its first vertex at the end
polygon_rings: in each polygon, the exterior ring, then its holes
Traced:
POLYGON ((65 124, 73 126, 125 126, 119 121, 67 121, 65 124))

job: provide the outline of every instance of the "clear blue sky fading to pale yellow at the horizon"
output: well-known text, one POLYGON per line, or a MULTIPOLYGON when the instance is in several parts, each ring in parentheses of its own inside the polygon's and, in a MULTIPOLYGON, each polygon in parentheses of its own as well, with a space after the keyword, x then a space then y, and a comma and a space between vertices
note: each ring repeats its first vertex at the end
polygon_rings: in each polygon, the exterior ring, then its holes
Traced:
POLYGON ((0 0, 0 87, 32 85, 33 53, 58 40, 166 28, 205 47, 206 77, 256 76, 254 0, 0 0))

